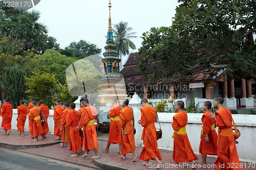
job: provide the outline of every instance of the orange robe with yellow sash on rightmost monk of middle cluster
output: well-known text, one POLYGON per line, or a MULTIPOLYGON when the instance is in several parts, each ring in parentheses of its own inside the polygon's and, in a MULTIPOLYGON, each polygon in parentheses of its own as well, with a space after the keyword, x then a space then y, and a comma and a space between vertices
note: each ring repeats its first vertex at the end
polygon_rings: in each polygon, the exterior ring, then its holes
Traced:
POLYGON ((82 150, 98 149, 98 138, 95 126, 97 110, 95 107, 88 106, 83 108, 79 126, 83 127, 82 150))

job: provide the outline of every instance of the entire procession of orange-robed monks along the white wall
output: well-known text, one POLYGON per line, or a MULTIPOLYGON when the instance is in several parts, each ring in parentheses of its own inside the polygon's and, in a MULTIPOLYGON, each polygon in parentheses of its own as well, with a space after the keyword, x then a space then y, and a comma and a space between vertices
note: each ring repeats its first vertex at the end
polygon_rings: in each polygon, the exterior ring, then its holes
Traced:
MULTIPOLYGON (((76 111, 75 104, 65 102, 61 103, 56 100, 54 107, 54 135, 57 136, 55 140, 61 140, 61 147, 63 144, 70 143, 69 150, 73 152, 72 157, 76 157, 77 150, 82 149, 85 153, 82 157, 87 157, 90 150, 93 150, 95 156, 92 158, 99 158, 98 141, 96 128, 99 125, 99 118, 95 107, 90 105, 89 98, 84 98, 81 101, 81 108, 76 111), (95 119, 97 125, 95 126, 95 119)), ((129 100, 125 99, 122 102, 122 107, 117 104, 117 98, 111 99, 112 106, 109 112, 111 117, 110 133, 108 144, 106 148, 101 148, 102 151, 109 151, 111 143, 119 144, 120 158, 125 159, 126 154, 133 155, 132 162, 136 160, 138 155, 135 153, 135 120, 133 109, 129 107, 129 100)), ((217 155, 215 162, 216 169, 224 170, 231 169, 231 164, 240 164, 236 142, 232 131, 232 116, 231 112, 223 107, 224 99, 218 96, 214 99, 214 107, 218 108, 215 113, 210 112, 211 103, 205 102, 203 104, 202 131, 199 152, 202 155, 203 165, 206 165, 206 155, 217 155), (218 127, 218 135, 215 128, 218 127)), ((47 118, 49 116, 49 108, 44 105, 44 101, 40 100, 40 107, 31 98, 31 103, 28 108, 24 105, 24 101, 20 102, 18 106, 17 127, 19 135, 24 136, 24 125, 26 117, 29 117, 29 132, 33 141, 46 137, 49 132, 47 118)), ((142 137, 144 148, 140 154, 139 159, 144 162, 142 165, 148 166, 149 160, 157 162, 157 168, 161 167, 161 154, 158 150, 157 135, 155 122, 157 122, 157 111, 154 107, 148 104, 146 99, 141 100, 141 117, 138 124, 143 127, 142 137)), ((173 117, 172 127, 174 129, 174 149, 173 160, 174 165, 181 162, 190 162, 191 168, 196 168, 197 156, 191 148, 190 142, 186 133, 187 113, 184 111, 184 103, 182 101, 176 102, 175 109, 178 111, 173 117)), ((1 111, 1 109, 0 109, 1 111)), ((1 116, 3 116, 2 127, 4 134, 9 135, 11 130, 12 119, 12 105, 8 99, 4 100, 2 106, 1 116)), ((204 166, 202 166, 204 167, 204 166)), ((236 166, 234 169, 242 169, 236 166)))

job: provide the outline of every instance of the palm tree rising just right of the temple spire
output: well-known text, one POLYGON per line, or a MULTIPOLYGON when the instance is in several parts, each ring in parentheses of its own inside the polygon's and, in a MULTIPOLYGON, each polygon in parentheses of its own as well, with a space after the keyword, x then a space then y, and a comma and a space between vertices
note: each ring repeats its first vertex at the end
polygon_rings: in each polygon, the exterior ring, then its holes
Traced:
POLYGON ((131 38, 137 38, 134 36, 136 32, 132 32, 133 28, 128 27, 128 22, 119 22, 113 26, 113 37, 115 38, 115 45, 117 47, 117 52, 120 55, 120 68, 122 67, 122 55, 129 54, 129 49, 135 49, 136 45, 131 41, 131 38))

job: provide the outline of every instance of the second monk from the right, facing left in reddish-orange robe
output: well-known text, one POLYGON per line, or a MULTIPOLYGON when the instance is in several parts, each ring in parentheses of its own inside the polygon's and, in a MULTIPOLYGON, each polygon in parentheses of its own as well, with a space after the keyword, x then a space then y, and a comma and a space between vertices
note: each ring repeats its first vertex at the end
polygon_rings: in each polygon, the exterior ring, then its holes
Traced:
POLYGON ((204 114, 201 118, 202 120, 202 132, 201 132, 201 141, 199 145, 199 153, 202 155, 203 163, 202 167, 206 166, 206 157, 207 155, 217 155, 217 138, 218 135, 215 131, 215 119, 210 118, 211 103, 204 102, 203 111, 204 114))

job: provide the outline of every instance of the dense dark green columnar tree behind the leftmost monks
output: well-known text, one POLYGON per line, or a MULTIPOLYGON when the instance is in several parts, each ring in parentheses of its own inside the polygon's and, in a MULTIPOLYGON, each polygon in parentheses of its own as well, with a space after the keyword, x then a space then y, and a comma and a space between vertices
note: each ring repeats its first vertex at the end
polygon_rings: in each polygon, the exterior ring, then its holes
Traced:
POLYGON ((25 76, 26 72, 17 63, 5 67, 1 75, 2 92, 9 98, 13 108, 17 108, 25 98, 25 76))

